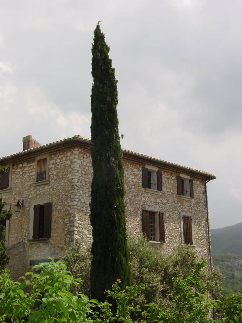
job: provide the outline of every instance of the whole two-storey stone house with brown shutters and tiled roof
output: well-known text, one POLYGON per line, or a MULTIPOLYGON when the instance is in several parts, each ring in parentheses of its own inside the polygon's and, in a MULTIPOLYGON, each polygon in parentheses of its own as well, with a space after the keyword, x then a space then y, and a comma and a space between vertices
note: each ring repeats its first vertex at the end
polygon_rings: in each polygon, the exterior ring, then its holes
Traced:
MULTIPOLYGON (((9 166, 0 197, 13 212, 6 223, 13 277, 49 256, 58 258, 77 237, 91 243, 90 146, 79 135, 46 145, 30 135, 23 138, 23 151, 2 158, 9 166)), ((127 233, 145 232, 164 252, 190 244, 211 265, 206 185, 216 177, 128 150, 123 161, 127 233)))

